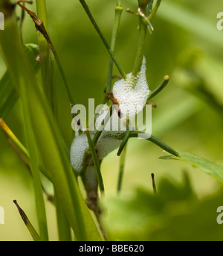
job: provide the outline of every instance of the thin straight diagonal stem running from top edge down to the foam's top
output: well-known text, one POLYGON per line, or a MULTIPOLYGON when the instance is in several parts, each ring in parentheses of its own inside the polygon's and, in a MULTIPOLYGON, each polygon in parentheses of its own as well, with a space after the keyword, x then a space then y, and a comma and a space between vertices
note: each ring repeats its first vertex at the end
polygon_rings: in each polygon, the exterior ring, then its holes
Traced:
POLYGON ((114 52, 111 50, 111 47, 109 46, 109 43, 107 43, 106 38, 103 36, 102 32, 100 31, 100 28, 98 27, 97 23, 94 20, 94 17, 91 14, 91 11, 88 8, 88 5, 85 3, 85 0, 80 0, 80 3, 82 4, 85 13, 87 13, 88 18, 90 19, 92 25, 94 26, 95 30, 97 31, 97 34, 100 36, 100 39, 103 41, 103 44, 106 46, 107 51, 109 51, 109 54, 111 55, 112 60, 114 61, 114 64, 117 66, 118 71, 120 72, 120 75, 124 79, 126 79, 126 73, 123 71, 120 64, 117 62, 117 58, 114 56, 114 52))

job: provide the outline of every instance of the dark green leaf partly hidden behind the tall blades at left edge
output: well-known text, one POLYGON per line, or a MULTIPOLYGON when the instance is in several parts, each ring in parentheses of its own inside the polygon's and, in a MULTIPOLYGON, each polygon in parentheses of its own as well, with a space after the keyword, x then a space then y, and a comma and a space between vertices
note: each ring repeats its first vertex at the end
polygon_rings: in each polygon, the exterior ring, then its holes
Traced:
MULTIPOLYGON (((33 72, 36 74, 40 67, 39 62, 36 60, 36 57, 39 54, 38 46, 35 44, 25 45, 25 53, 27 54, 33 72)), ((14 104, 16 104, 18 99, 19 95, 13 86, 13 81, 7 70, 0 80, 0 116, 2 118, 10 113, 10 110, 13 108, 14 104)))

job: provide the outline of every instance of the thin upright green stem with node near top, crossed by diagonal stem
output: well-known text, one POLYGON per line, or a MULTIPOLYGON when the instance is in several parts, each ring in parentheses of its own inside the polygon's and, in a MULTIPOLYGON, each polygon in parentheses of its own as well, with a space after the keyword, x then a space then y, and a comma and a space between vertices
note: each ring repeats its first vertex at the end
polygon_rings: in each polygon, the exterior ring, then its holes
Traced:
MULTIPOLYGON (((120 25, 120 17, 123 12, 123 7, 120 5, 120 1, 117 1, 117 6, 115 7, 115 17, 114 17, 114 25, 112 28, 112 35, 111 35, 111 51, 114 52, 114 47, 117 39, 117 31, 118 27, 120 25)), ((112 72, 113 72, 113 60, 110 57, 109 60, 109 73, 108 73, 108 79, 107 79, 107 87, 106 87, 106 93, 111 92, 111 81, 112 81, 112 72)), ((106 97, 106 102, 109 102, 109 99, 106 97)))

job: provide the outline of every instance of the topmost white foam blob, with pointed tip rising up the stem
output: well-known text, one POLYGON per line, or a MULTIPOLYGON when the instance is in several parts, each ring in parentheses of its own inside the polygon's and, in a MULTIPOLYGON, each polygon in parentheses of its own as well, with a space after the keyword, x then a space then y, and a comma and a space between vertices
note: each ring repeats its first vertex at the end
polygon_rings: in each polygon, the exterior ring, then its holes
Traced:
POLYGON ((132 116, 143 110, 149 96, 149 87, 146 81, 146 58, 140 72, 135 78, 132 73, 127 74, 126 80, 121 79, 114 83, 112 93, 120 104, 120 112, 125 116, 132 116))

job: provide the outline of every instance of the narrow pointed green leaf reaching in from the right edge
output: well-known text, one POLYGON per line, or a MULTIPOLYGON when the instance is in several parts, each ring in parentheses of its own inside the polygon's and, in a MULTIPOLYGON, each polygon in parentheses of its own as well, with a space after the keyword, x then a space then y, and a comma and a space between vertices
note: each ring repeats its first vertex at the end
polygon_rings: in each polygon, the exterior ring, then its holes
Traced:
POLYGON ((179 152, 181 154, 181 157, 175 157, 174 155, 167 155, 160 157, 160 159, 169 160, 181 160, 185 161, 187 163, 191 163, 193 166, 198 167, 199 169, 203 170, 207 174, 213 176, 217 180, 221 181, 223 183, 223 166, 219 166, 216 163, 212 163, 207 159, 204 159, 202 157, 198 157, 195 154, 190 154, 187 152, 179 152))

